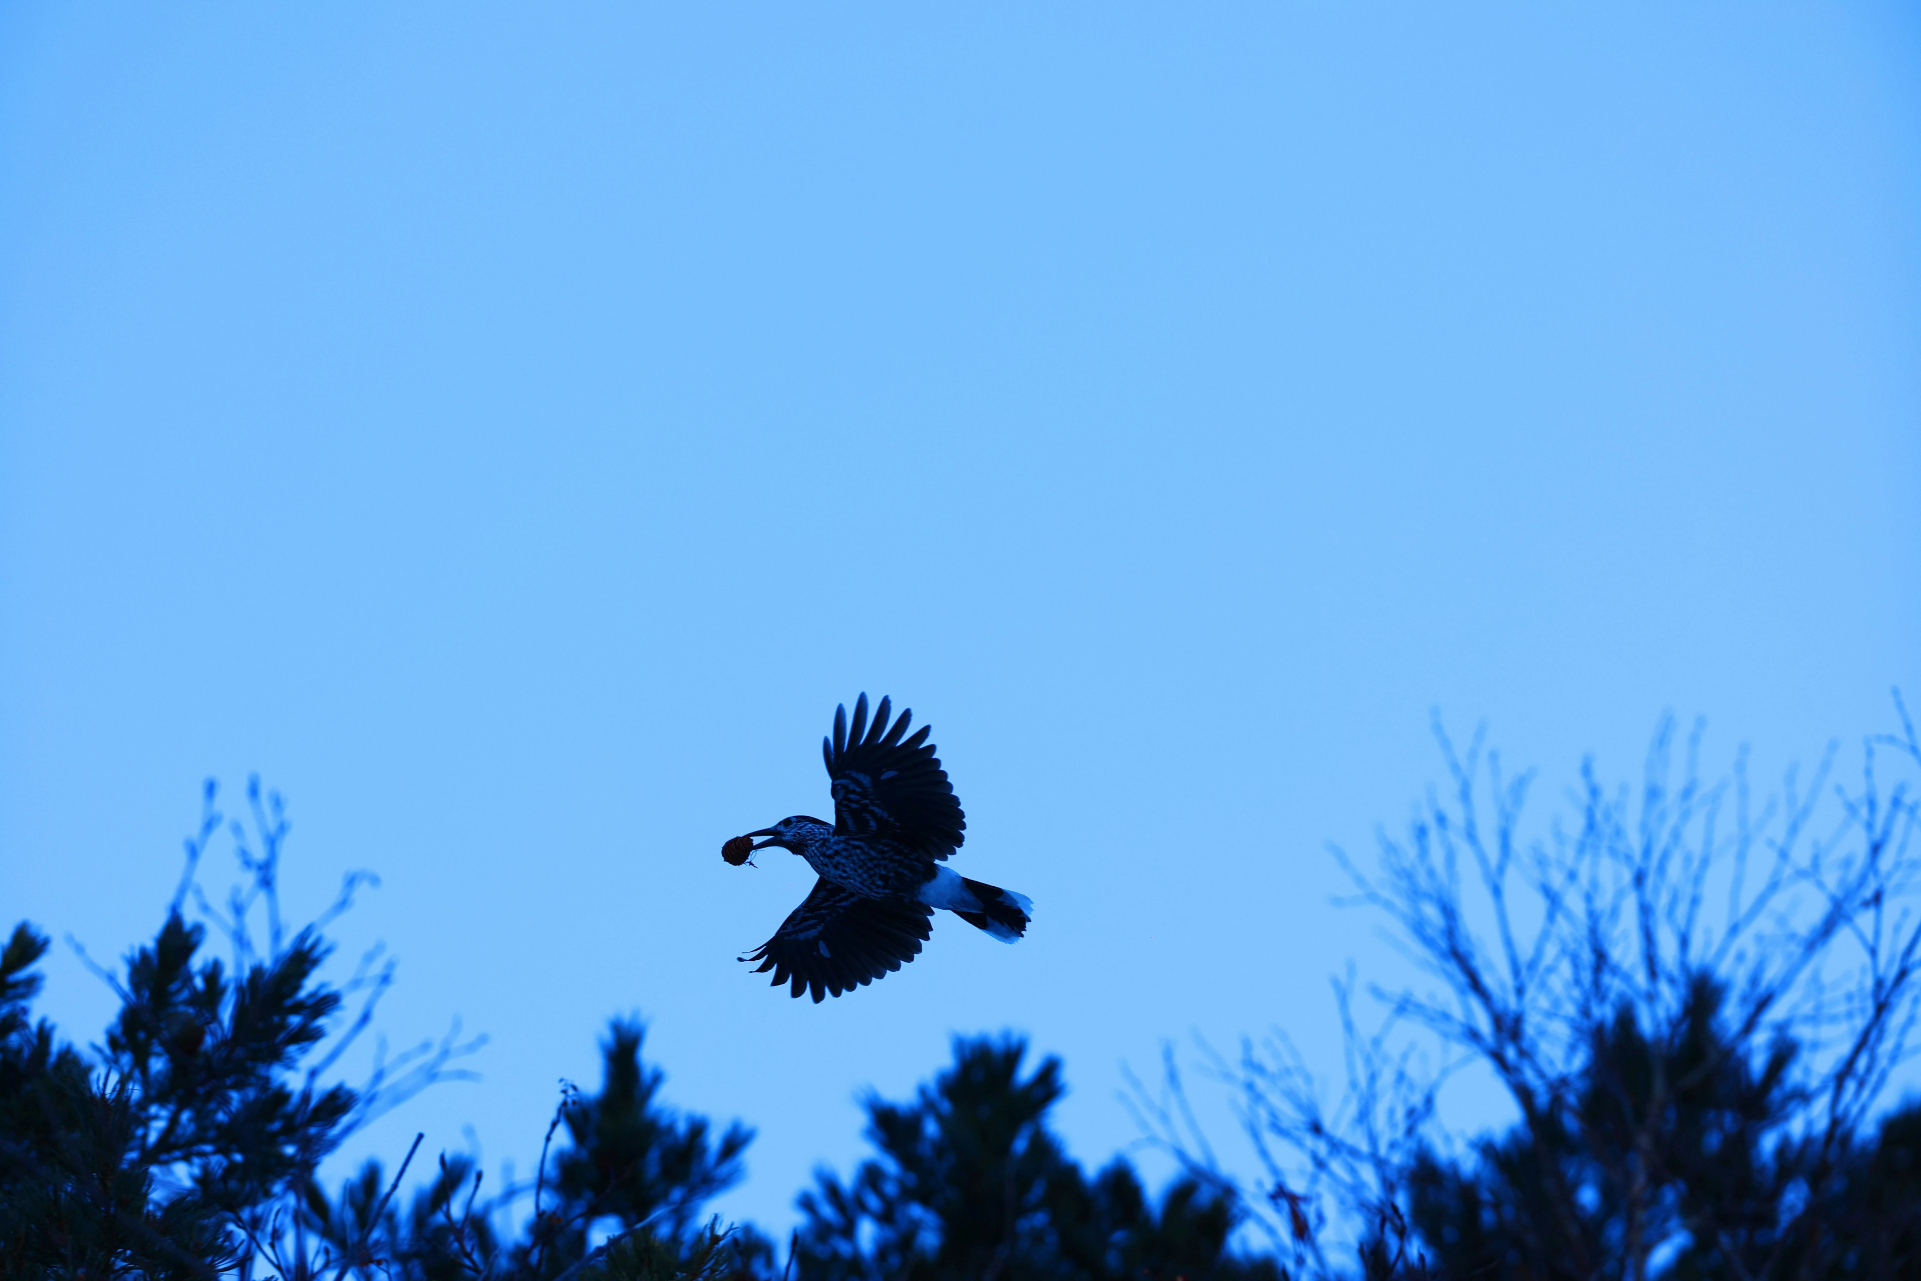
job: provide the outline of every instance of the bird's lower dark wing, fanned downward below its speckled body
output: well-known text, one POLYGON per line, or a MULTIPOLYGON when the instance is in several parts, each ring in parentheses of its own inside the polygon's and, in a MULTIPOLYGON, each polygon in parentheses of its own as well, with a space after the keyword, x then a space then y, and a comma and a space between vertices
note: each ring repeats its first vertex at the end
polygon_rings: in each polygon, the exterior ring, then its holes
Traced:
POLYGON ((924 903, 863 899, 818 880, 801 906, 788 912, 761 951, 755 974, 774 972, 774 987, 791 981, 793 995, 813 991, 815 1001, 838 997, 920 955, 934 908, 924 903))

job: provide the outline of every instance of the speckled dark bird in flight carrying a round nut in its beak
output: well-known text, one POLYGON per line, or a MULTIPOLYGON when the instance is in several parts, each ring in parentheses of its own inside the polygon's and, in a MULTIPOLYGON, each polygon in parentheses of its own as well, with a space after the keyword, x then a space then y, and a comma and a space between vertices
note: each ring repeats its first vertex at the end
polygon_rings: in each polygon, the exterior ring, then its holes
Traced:
POLYGON ((1028 931, 1026 895, 941 866, 966 839, 966 816, 928 741, 932 726, 907 734, 912 713, 888 724, 889 713, 882 699, 868 722, 864 693, 853 724, 845 705, 834 709, 834 736, 820 743, 834 782, 832 824, 793 814, 720 847, 736 866, 780 847, 820 876, 774 937, 742 956, 761 962, 755 974, 772 970, 774 987, 791 983, 795 997, 811 991, 818 1003, 899 970, 920 955, 937 906, 1003 943, 1028 931))

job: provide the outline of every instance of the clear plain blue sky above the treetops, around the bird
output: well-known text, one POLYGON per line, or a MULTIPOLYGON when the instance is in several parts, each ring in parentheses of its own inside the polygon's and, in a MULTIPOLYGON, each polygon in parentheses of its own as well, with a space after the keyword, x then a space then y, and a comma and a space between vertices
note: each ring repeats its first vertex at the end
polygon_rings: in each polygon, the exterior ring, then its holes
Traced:
POLYGON ((640 1012, 776 1231, 955 1031, 1099 1160, 1162 1037, 1329 1052, 1429 709, 1543 795, 1888 728, 1917 357, 1892 2, 8 4, 0 906, 121 953, 257 770, 492 1035, 353 1156, 526 1170, 640 1012), (813 1006, 718 845, 861 689, 1035 926, 813 1006))

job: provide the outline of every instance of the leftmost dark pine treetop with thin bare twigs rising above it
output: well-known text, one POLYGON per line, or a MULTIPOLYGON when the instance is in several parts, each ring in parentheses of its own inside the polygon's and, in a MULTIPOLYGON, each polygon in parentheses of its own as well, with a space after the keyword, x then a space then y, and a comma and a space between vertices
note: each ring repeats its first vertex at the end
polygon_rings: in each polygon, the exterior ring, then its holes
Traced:
MULTIPOLYGON (((319 1079, 371 1016, 390 970, 363 970, 346 989, 317 978, 327 941, 317 928, 284 937, 273 897, 286 835, 279 799, 255 786, 250 801, 254 841, 234 832, 248 887, 229 899, 231 914, 207 908, 232 943, 232 968, 206 955, 207 926, 181 912, 221 824, 209 787, 188 882, 159 933, 123 976, 102 972, 121 1008, 92 1060, 31 1024, 38 976, 29 966, 46 939, 13 931, 0 960, 0 1258, 10 1275, 213 1275, 273 1250, 273 1223, 319 1162, 459 1052, 450 1041, 415 1054, 398 1077, 394 1064, 377 1064, 359 1091, 319 1079), (269 918, 265 951, 246 928, 255 906, 269 918), (361 1022, 317 1054, 352 995, 365 997, 361 1022)), ((348 878, 336 910, 357 883, 348 878)))

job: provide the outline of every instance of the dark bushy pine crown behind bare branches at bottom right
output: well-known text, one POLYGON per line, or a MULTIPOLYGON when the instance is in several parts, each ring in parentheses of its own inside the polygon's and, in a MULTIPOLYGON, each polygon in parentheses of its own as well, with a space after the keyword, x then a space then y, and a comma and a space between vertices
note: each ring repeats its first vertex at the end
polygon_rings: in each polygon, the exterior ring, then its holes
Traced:
POLYGON ((1823 1154, 1788 1129, 1806 1104, 1796 1047, 1746 1056, 1721 1010, 1721 991, 1698 979, 1667 1043, 1621 1010, 1579 1091, 1539 1124, 1481 1139, 1462 1160, 1422 1150, 1408 1218, 1437 1271, 1625 1277, 1652 1239, 1669 1243, 1656 1262, 1671 1281, 1921 1275, 1921 1110, 1823 1154), (1798 1214, 1812 1187, 1827 1189, 1823 1202, 1798 1214))

